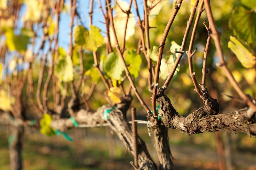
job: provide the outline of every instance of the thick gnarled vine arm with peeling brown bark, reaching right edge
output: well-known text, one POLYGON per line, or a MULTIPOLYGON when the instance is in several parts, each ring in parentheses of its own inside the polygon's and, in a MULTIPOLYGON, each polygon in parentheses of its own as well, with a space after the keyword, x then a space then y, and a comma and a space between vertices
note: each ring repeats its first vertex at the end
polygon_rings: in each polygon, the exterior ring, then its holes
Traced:
POLYGON ((244 132, 249 136, 256 136, 255 117, 250 120, 246 118, 247 112, 250 111, 248 107, 234 113, 211 115, 205 112, 204 106, 183 117, 173 108, 167 96, 162 95, 157 101, 160 103, 158 112, 162 115, 162 122, 168 128, 180 129, 188 135, 204 131, 231 130, 232 133, 244 132))

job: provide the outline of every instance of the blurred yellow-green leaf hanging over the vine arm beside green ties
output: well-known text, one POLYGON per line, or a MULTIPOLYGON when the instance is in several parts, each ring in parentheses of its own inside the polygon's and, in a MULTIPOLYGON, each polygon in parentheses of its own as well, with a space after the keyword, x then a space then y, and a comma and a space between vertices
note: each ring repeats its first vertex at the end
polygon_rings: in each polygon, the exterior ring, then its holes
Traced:
POLYGON ((52 122, 52 116, 47 113, 44 113, 43 118, 40 120, 42 134, 45 134, 47 136, 55 135, 54 130, 50 126, 51 122, 52 122))

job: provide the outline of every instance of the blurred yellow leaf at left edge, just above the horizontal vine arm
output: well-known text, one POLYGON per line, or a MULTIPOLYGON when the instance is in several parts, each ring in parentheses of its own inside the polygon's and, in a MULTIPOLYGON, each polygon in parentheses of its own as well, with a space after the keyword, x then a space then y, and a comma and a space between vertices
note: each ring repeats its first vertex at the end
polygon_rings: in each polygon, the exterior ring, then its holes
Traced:
POLYGON ((0 90, 0 109, 10 111, 11 105, 15 103, 14 97, 8 97, 5 90, 0 90))

